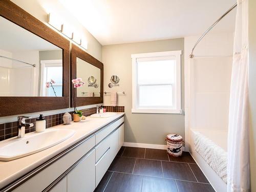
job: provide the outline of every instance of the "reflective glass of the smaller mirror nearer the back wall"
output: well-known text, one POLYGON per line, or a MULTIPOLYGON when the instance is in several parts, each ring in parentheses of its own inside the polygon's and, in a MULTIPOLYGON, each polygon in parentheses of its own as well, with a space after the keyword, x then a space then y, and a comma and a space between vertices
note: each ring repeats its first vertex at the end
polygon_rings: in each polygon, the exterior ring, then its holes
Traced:
POLYGON ((76 57, 76 76, 86 84, 76 90, 77 97, 100 97, 100 69, 76 57))

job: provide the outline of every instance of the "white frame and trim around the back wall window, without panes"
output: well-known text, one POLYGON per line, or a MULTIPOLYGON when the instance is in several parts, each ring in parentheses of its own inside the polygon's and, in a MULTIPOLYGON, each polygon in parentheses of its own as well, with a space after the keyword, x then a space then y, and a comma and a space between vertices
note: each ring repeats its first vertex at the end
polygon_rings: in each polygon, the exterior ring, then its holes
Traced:
MULTIPOLYGON (((132 54, 132 113, 167 113, 167 114, 182 114, 181 110, 181 54, 182 51, 164 51, 154 53, 132 54), (176 109, 172 108, 141 108, 139 107, 138 93, 138 58, 148 57, 169 57, 176 58, 176 109)), ((160 83, 159 83, 160 84, 160 83)))

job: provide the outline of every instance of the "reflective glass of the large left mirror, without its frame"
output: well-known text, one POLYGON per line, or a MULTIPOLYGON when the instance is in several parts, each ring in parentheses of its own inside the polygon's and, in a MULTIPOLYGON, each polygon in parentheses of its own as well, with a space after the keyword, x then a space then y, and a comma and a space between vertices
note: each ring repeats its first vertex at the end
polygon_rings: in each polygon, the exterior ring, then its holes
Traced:
POLYGON ((4 17, 0 26, 0 96, 62 97, 62 49, 4 17))

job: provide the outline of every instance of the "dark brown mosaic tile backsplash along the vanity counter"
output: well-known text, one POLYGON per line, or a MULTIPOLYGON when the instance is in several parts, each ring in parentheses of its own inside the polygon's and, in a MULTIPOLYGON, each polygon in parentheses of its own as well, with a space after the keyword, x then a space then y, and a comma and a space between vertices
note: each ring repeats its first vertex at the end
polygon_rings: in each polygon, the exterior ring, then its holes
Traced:
MULTIPOLYGON (((124 106, 104 106, 106 112, 124 112, 124 106)), ((96 113, 96 108, 84 109, 81 110, 83 116, 90 116, 96 113)), ((71 115, 72 112, 69 112, 71 115)), ((62 116, 64 113, 54 114, 54 115, 47 115, 46 118, 46 128, 56 126, 63 123, 62 116)), ((18 115, 17 115, 18 116, 18 115)), ((72 115, 73 120, 73 115, 72 115)), ((30 133, 35 131, 35 118, 31 118, 26 120, 28 123, 34 123, 32 127, 26 127, 25 133, 30 133)), ((18 135, 18 127, 17 121, 2 123, 0 124, 0 141, 9 139, 11 137, 15 137, 18 135)))

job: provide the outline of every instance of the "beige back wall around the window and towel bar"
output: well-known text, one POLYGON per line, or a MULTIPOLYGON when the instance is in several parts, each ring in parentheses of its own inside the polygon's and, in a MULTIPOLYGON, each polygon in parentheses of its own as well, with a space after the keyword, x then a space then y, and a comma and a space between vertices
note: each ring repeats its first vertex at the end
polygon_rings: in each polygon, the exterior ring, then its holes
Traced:
MULTIPOLYGON (((169 133, 184 137, 184 115, 179 114, 132 114, 132 59, 131 54, 182 50, 182 109, 184 109, 184 38, 136 42, 132 44, 102 47, 104 63, 104 91, 125 91, 119 94, 118 105, 125 106, 125 142, 166 144, 169 133), (120 86, 110 89, 110 77, 118 75, 120 86)), ((110 95, 104 96, 104 104, 110 104, 110 95)))

